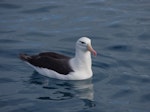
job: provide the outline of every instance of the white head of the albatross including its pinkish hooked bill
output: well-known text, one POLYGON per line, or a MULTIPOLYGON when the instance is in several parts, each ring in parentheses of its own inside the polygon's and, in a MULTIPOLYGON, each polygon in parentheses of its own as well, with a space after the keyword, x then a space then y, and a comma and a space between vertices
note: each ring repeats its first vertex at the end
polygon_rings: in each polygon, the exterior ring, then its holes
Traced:
POLYGON ((92 48, 91 39, 88 37, 81 37, 76 42, 76 50, 81 50, 83 52, 91 52, 94 56, 97 55, 96 51, 92 48))

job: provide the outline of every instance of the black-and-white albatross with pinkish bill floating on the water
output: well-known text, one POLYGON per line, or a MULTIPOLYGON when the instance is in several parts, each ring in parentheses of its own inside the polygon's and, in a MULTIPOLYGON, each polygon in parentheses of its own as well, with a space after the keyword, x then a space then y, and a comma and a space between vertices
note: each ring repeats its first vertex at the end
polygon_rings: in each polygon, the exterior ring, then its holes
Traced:
POLYGON ((93 76, 91 39, 81 37, 76 42, 73 58, 55 52, 42 52, 37 55, 20 54, 20 59, 38 73, 60 80, 85 80, 93 76))

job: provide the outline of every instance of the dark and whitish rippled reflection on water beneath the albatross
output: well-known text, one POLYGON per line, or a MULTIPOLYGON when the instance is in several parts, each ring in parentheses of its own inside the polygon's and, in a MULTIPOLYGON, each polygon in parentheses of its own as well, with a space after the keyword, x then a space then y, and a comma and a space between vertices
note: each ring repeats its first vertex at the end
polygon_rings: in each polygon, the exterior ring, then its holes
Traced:
POLYGON ((84 102, 85 107, 94 107, 94 92, 92 80, 83 81, 62 81, 44 77, 34 72, 30 78, 30 83, 41 85, 43 89, 47 89, 45 96, 40 96, 41 100, 68 100, 77 98, 84 102))

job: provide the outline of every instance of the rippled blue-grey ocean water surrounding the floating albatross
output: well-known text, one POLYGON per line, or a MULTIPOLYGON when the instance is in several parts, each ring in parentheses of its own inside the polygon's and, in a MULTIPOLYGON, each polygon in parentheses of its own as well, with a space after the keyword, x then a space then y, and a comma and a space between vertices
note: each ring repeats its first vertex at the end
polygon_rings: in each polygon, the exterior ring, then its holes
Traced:
MULTIPOLYGON (((0 0, 0 112, 149 112, 149 0, 0 0), (44 77, 19 53, 98 52, 84 81, 44 77)), ((82 75, 82 74, 81 74, 82 75)))

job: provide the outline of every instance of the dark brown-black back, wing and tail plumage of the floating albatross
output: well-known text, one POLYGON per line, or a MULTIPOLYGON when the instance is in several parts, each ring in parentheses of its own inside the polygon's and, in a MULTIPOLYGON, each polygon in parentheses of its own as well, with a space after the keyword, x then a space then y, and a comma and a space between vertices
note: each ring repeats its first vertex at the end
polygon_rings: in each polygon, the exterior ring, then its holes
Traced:
POLYGON ((54 52, 44 52, 32 56, 20 54, 20 59, 33 66, 54 70, 64 75, 73 72, 72 68, 69 66, 70 57, 54 52))

